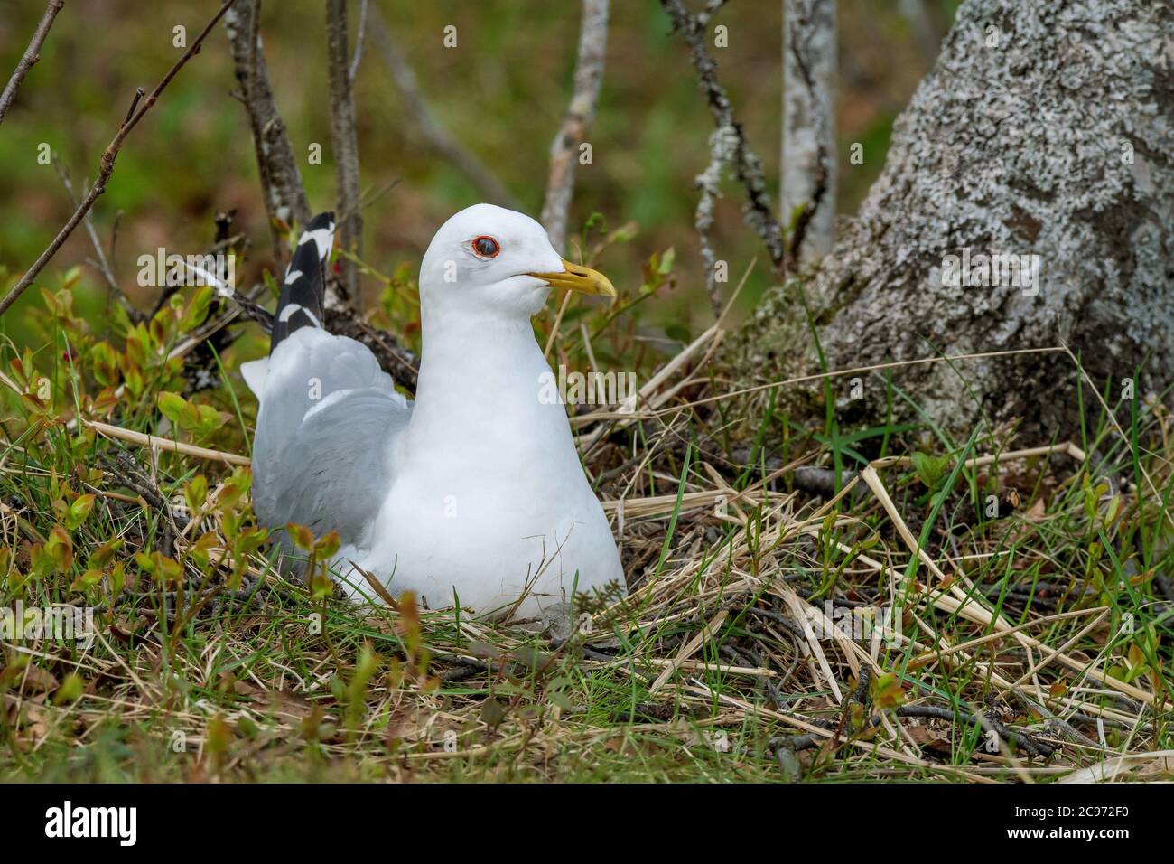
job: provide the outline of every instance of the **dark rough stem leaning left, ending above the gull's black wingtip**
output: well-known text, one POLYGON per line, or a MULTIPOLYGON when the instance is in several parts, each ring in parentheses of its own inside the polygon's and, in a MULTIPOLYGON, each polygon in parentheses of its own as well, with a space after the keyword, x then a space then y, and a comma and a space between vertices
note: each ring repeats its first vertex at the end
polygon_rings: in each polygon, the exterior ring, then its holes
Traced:
POLYGON ((265 212, 269 214, 274 257, 281 263, 285 254, 284 226, 308 222, 310 205, 302 187, 297 158, 285 135, 285 123, 269 83, 269 69, 257 32, 259 21, 261 0, 241 0, 237 8, 224 16, 224 32, 232 53, 236 80, 241 85, 241 99, 252 127, 252 146, 257 154, 265 212))

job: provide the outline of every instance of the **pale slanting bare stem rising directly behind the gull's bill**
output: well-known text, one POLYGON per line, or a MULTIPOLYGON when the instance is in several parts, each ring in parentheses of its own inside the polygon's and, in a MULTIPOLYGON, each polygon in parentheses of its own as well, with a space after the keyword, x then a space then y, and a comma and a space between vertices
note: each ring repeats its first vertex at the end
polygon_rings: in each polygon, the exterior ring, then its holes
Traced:
POLYGON ((546 200, 539 221, 555 249, 567 243, 567 220, 575 189, 575 166, 579 148, 595 120, 599 91, 603 82, 607 56, 608 0, 583 0, 583 18, 579 29, 579 60, 574 88, 566 116, 551 143, 551 172, 546 182, 546 200))

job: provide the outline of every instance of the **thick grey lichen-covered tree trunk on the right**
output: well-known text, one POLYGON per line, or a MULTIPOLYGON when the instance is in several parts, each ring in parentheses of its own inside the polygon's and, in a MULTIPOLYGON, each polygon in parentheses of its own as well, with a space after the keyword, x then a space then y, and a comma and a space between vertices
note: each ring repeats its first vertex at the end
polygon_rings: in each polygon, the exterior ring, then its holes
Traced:
MULTIPOLYGON (((799 286, 831 369, 1068 344, 1111 402, 1138 367, 1139 397, 1174 383, 1169 0, 966 0, 832 254, 735 340, 743 382, 818 370, 799 286)), ((892 375, 950 429, 981 411, 1046 440, 1077 417, 1062 354, 892 375)), ((883 377, 863 383, 883 413, 883 377)))

